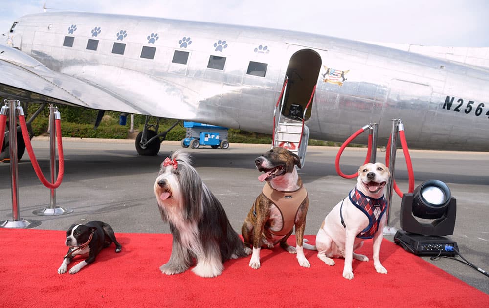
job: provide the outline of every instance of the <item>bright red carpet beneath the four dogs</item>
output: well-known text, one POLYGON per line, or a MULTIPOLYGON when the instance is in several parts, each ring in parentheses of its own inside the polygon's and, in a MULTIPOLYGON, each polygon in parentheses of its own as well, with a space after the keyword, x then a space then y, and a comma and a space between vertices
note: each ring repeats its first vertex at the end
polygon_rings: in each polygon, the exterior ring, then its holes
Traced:
MULTIPOLYGON (((0 307, 489 307, 489 295, 387 240, 380 257, 389 273, 354 260, 348 281, 343 259, 328 266, 306 251, 311 268, 302 268, 280 247, 262 250, 258 270, 241 258, 217 278, 167 276, 158 268, 170 256, 171 235, 116 236, 121 253, 112 244, 79 273, 59 275, 65 232, 0 229, 0 307)), ((360 252, 370 258, 372 242, 360 252)))

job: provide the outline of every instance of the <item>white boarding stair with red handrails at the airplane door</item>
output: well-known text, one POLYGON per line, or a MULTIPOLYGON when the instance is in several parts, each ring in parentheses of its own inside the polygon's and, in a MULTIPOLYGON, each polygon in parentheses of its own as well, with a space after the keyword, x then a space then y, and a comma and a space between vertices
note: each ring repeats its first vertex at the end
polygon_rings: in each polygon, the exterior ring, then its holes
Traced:
POLYGON ((273 111, 273 134, 272 134, 272 146, 285 148, 299 156, 301 161, 301 168, 304 167, 306 158, 307 144, 309 140, 309 128, 305 125, 306 112, 311 104, 312 98, 316 86, 312 89, 311 98, 309 99, 304 112, 301 117, 288 118, 283 116, 282 111, 284 108, 284 93, 287 89, 288 78, 286 77, 282 92, 275 105, 273 111), (280 110, 277 115, 277 110, 280 110))

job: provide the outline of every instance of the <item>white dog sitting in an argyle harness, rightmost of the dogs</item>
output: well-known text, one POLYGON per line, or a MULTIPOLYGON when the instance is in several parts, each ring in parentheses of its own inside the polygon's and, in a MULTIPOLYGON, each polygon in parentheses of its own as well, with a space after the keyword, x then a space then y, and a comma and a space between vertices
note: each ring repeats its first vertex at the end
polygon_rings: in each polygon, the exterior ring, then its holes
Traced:
POLYGON ((358 169, 356 187, 324 219, 317 232, 316 246, 304 248, 317 250, 317 257, 328 265, 331 258, 345 258, 343 277, 353 278, 352 260, 368 261, 354 250, 363 245, 363 239, 373 238, 374 266, 378 273, 387 274, 379 260, 382 229, 386 223, 387 208, 384 187, 390 172, 382 163, 368 163, 358 169))

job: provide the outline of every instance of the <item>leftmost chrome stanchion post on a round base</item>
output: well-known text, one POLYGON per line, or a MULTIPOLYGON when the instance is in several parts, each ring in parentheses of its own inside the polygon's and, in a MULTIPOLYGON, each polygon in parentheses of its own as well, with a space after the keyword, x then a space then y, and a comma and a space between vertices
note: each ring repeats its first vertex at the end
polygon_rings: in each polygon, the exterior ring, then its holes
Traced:
MULTIPOLYGON (((41 221, 26 220, 20 218, 19 210, 19 186, 17 179, 19 177, 18 161, 17 161, 17 118, 16 110, 19 110, 19 115, 23 115, 22 107, 19 101, 7 100, 9 110, 8 131, 9 131, 9 151, 10 151, 10 176, 12 188, 12 219, 0 222, 2 228, 33 228, 41 224, 41 221), (18 104, 17 108, 15 104, 18 104)), ((3 108, 2 108, 3 111, 3 108)))

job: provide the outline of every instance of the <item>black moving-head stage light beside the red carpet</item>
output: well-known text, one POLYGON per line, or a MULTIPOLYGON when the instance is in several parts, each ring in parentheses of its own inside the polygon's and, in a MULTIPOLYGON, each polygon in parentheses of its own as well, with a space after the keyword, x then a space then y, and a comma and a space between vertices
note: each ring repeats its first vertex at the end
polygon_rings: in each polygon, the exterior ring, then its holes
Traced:
POLYGON ((439 180, 428 180, 412 194, 404 194, 400 207, 400 226, 394 242, 419 256, 454 256, 456 242, 444 235, 453 234, 457 200, 448 186, 439 180), (432 220, 420 222, 416 217, 432 220))

